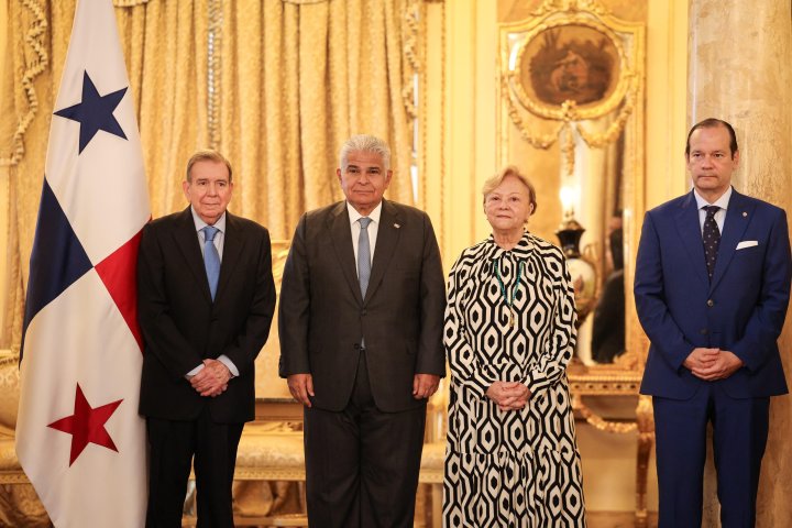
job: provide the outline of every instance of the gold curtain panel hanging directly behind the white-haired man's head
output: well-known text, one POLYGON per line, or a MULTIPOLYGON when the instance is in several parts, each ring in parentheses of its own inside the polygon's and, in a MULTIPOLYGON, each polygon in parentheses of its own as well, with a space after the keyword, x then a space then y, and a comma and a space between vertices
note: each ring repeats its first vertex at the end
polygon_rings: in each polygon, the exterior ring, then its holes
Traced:
POLYGON ((389 197, 411 204, 406 2, 221 3, 217 146, 239 173, 232 207, 290 238, 302 211, 340 199, 338 151, 355 133, 389 142, 389 197))

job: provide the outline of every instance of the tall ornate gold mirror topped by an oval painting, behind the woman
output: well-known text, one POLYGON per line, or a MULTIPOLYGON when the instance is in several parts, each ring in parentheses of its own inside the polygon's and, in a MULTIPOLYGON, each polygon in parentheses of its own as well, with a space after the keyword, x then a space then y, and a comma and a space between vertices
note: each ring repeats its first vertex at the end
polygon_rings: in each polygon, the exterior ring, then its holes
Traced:
POLYGON ((632 302, 644 212, 645 22, 595 0, 546 0, 499 23, 501 165, 537 186, 529 229, 559 243, 575 283, 580 376, 635 391, 645 344, 632 302), (612 248, 613 245, 613 248, 612 248), (593 377, 592 377, 593 376, 593 377))

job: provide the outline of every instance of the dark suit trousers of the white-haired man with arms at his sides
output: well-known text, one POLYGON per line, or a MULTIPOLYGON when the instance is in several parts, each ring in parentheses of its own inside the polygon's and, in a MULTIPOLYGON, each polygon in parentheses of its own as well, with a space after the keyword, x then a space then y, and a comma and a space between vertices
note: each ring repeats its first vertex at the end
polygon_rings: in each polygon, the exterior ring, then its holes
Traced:
POLYGON ((310 526, 411 528, 425 424, 426 405, 377 409, 361 352, 346 407, 305 409, 310 526))

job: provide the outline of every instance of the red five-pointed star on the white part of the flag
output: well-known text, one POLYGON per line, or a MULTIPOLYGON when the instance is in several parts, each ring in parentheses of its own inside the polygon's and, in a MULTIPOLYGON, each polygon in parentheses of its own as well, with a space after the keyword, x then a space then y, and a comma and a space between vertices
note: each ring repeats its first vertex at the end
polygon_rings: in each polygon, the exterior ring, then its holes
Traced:
POLYGON ((101 407, 91 407, 79 384, 77 384, 77 394, 75 395, 75 413, 66 418, 53 421, 47 427, 57 429, 58 431, 72 435, 72 455, 69 458, 69 466, 77 460, 82 450, 89 443, 96 443, 118 452, 116 444, 110 438, 110 433, 105 429, 105 424, 110 419, 123 399, 101 407))

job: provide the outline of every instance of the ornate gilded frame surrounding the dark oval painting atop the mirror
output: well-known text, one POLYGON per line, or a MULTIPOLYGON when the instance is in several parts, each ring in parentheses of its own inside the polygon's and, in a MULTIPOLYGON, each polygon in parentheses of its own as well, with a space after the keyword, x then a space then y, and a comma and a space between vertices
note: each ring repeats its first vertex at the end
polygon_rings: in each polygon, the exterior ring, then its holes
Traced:
MULTIPOLYGON (((499 24, 499 42, 498 95, 502 111, 498 140, 502 160, 508 157, 508 142, 503 139, 507 138, 509 121, 520 136, 536 148, 547 150, 559 138, 565 136, 562 152, 570 172, 574 165, 572 128, 586 145, 598 148, 618 139, 636 109, 640 110, 636 121, 644 121, 645 24, 614 16, 596 0, 546 0, 530 18, 499 24), (526 54, 542 35, 553 31, 569 33, 574 29, 600 35, 613 48, 612 58, 618 58, 615 78, 608 85, 613 89, 591 102, 579 103, 574 99, 558 103, 540 101, 531 96, 522 81, 526 54), (604 132, 592 132, 582 123, 612 113, 616 117, 604 132)), ((641 150, 642 138, 641 132, 641 150)))

